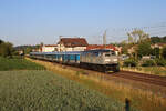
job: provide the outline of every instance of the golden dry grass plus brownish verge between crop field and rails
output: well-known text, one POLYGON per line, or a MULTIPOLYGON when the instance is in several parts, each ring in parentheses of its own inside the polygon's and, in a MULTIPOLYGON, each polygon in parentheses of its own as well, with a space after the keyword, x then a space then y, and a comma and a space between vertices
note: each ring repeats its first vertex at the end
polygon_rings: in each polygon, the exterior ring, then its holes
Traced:
MULTIPOLYGON (((31 60, 31 59, 30 59, 31 60)), ((91 89, 97 90, 112 99, 117 99, 122 102, 128 98, 132 101, 132 107, 142 111, 165 111, 166 99, 160 97, 160 88, 144 84, 128 79, 114 77, 112 74, 104 74, 96 71, 84 70, 80 68, 62 65, 54 62, 46 62, 40 60, 31 60, 33 62, 45 65, 58 74, 68 79, 80 82, 91 89), (107 78, 110 79, 107 80, 107 78), (142 89, 144 87, 144 89, 142 89), (155 92, 154 92, 155 91, 155 92)), ((165 93, 165 90, 164 90, 165 93)))

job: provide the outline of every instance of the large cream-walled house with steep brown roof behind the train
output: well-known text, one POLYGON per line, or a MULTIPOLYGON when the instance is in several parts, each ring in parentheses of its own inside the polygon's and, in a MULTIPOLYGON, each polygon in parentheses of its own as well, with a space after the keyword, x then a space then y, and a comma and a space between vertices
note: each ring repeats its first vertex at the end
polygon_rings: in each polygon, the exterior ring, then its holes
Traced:
POLYGON ((87 46, 84 38, 60 38, 58 51, 84 51, 87 46))

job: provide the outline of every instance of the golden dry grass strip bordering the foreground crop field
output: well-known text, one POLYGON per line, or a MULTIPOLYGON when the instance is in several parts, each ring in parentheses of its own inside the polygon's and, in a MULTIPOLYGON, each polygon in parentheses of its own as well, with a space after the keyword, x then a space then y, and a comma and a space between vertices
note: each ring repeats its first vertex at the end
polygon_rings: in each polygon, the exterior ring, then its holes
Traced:
POLYGON ((61 68, 50 62, 32 61, 45 65, 48 70, 85 84, 91 89, 95 89, 112 99, 124 102, 125 99, 128 98, 132 101, 132 107, 142 111, 166 111, 166 99, 151 91, 133 89, 133 87, 115 83, 113 81, 107 83, 107 81, 101 81, 100 78, 87 77, 83 74, 84 72, 61 68))

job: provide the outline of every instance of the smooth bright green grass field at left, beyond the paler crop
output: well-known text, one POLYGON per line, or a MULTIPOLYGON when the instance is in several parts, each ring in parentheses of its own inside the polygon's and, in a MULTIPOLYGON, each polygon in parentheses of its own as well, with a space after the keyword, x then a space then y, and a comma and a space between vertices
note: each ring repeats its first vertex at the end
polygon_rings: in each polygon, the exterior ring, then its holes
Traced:
POLYGON ((0 71, 9 70, 44 70, 43 65, 37 64, 23 58, 2 58, 0 57, 0 71))

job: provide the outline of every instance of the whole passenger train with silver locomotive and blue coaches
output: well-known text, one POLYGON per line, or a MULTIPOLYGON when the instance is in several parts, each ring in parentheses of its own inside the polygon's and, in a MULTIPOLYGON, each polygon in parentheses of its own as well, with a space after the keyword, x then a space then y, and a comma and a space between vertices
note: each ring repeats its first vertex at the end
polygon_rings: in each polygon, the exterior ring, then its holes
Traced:
POLYGON ((118 72, 118 57, 108 49, 65 52, 30 52, 30 58, 75 65, 100 72, 118 72))

